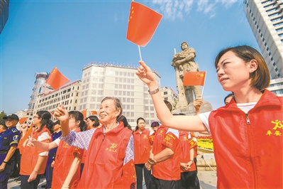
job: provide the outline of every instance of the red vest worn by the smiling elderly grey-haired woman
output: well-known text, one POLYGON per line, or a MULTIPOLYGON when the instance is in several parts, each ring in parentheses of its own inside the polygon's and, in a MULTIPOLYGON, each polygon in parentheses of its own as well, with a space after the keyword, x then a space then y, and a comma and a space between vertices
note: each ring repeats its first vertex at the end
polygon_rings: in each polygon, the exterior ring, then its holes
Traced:
MULTIPOLYGON (((123 160, 132 134, 133 131, 126 129, 121 121, 105 136, 104 126, 97 128, 89 143, 84 170, 77 188, 126 188, 126 181, 123 182, 122 179, 123 160)), ((134 170, 134 165, 131 166, 134 170)), ((135 179, 135 175, 132 177, 135 179)))

